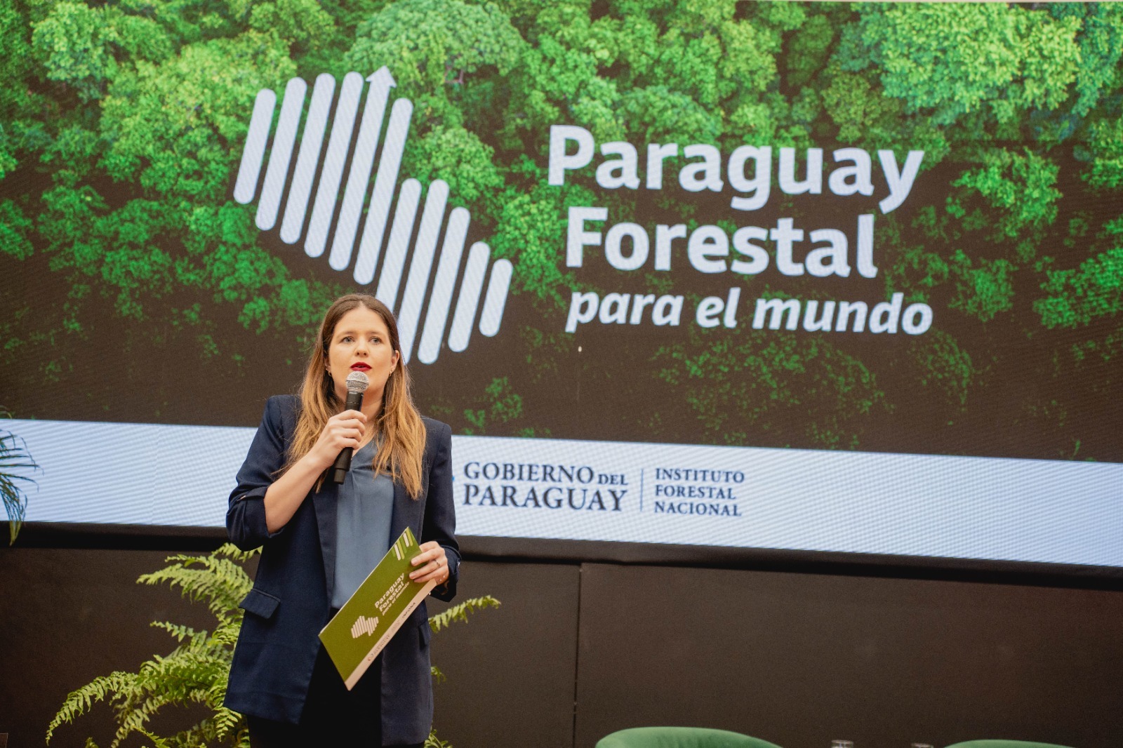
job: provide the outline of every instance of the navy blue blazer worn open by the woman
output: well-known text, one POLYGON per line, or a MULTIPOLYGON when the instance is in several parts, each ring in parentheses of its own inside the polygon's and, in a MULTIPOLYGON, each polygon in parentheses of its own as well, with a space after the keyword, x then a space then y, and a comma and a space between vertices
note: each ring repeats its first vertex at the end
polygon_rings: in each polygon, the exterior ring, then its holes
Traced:
MULTIPOLYGON (((318 635, 330 618, 336 572, 336 492, 325 481, 289 522, 270 533, 265 492, 285 464, 300 416, 295 395, 270 398, 254 435, 238 486, 230 494, 226 529, 244 550, 263 546, 254 589, 241 602, 246 613, 234 651, 226 705, 290 723, 300 721, 304 696, 320 646, 318 635)), ((460 554, 454 535, 451 429, 423 419, 426 448, 422 486, 410 499, 394 483, 390 537, 407 527, 421 542, 436 540, 448 556, 448 582, 433 589, 439 600, 456 594, 460 554)), ((429 668, 429 621, 424 602, 382 650, 382 736, 386 745, 424 742, 432 724, 432 678, 429 668)))

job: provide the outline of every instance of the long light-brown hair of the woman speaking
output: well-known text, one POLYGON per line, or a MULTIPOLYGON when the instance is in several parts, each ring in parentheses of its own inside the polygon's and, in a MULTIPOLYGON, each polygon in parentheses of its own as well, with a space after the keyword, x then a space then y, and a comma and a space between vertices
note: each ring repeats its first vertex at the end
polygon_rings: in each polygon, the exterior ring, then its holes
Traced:
MULTIPOLYGON (((360 305, 382 318, 386 329, 390 330, 390 345, 399 354, 401 353, 398 322, 386 304, 366 293, 349 293, 332 302, 323 314, 320 335, 308 359, 304 384, 300 391, 300 419, 296 421, 296 432, 289 447, 289 462, 283 468, 285 471, 312 449, 328 419, 343 408, 344 403, 336 395, 335 384, 328 373, 328 349, 331 347, 331 336, 335 335, 339 319, 360 305)), ((401 357, 383 389, 382 409, 375 421, 375 430, 381 436, 378 450, 374 455, 375 473, 386 473, 394 481, 401 481, 410 498, 417 499, 421 495, 421 457, 424 454, 426 430, 421 414, 413 404, 410 374, 405 371, 405 361, 401 357)), ((317 490, 322 482, 323 476, 320 476, 317 490)))

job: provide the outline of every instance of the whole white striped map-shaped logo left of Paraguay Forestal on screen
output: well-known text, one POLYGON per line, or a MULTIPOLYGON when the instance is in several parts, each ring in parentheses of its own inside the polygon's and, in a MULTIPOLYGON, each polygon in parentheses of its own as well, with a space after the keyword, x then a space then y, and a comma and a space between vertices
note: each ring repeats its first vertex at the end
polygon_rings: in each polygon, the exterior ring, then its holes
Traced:
MULTIPOLYGON (((316 79, 286 198, 285 183, 296 133, 300 129, 308 84, 302 79, 294 77, 285 85, 272 144, 270 144, 270 130, 273 128, 276 93, 271 89, 258 91, 234 188, 235 200, 244 204, 253 202, 257 193, 266 146, 271 146, 255 222, 263 231, 272 230, 284 199, 281 240, 285 244, 295 244, 300 240, 304 228, 312 183, 319 168, 320 180, 304 235, 304 253, 309 257, 322 256, 330 238, 328 264, 336 271, 346 271, 351 266, 355 238, 358 235, 359 224, 363 222, 363 206, 366 202, 371 172, 374 168, 375 152, 382 137, 382 121, 390 100, 390 89, 395 85, 390 70, 385 66, 368 75, 365 81, 369 82, 369 86, 363 106, 355 149, 348 165, 347 154, 354 135, 359 100, 363 97, 364 79, 355 72, 344 76, 339 98, 335 102, 331 135, 326 150, 323 150, 323 135, 331 113, 336 79, 327 73, 316 79), (321 150, 323 150, 322 164, 321 150), (343 203, 339 206, 339 216, 334 221, 332 234, 332 218, 339 202, 339 186, 345 167, 349 168, 347 183, 344 188, 343 203)), ((378 285, 375 297, 395 310, 402 355, 405 361, 410 359, 420 327, 418 359, 423 364, 431 364, 437 361, 440 353, 450 310, 453 320, 448 334, 448 347, 451 350, 459 353, 468 347, 481 297, 483 297, 483 310, 480 314, 480 331, 489 337, 499 332, 513 268, 510 261, 496 261, 492 265, 491 279, 484 294, 484 276, 487 274, 491 248, 483 241, 476 241, 468 250, 462 275, 464 245, 467 240, 471 216, 464 208, 454 208, 446 224, 448 183, 444 180, 435 180, 429 185, 412 252, 410 252, 410 238, 413 237, 417 211, 421 202, 421 183, 414 179, 408 179, 402 183, 396 195, 394 218, 390 222, 390 237, 386 239, 390 208, 395 197, 394 185, 398 182, 412 115, 413 102, 408 99, 398 99, 391 107, 353 276, 360 285, 374 282, 380 252, 385 243, 386 253, 377 274, 378 285), (432 265, 442 227, 444 241, 430 288, 430 275, 433 274, 432 265), (407 258, 411 262, 409 273, 405 275, 405 290, 399 300, 407 258), (462 279, 459 295, 453 309, 453 292, 457 277, 462 279), (423 309, 427 292, 429 304, 428 309, 423 309), (422 313, 424 313, 423 326, 422 313)))

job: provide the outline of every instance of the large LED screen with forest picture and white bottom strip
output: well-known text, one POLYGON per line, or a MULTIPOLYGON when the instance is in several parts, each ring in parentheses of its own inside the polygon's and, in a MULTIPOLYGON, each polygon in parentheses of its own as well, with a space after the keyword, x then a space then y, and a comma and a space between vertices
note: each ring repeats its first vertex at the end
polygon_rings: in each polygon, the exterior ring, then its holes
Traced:
POLYGON ((464 535, 1123 567, 1121 6, 27 0, 0 39, 29 520, 221 526, 362 290, 464 535))

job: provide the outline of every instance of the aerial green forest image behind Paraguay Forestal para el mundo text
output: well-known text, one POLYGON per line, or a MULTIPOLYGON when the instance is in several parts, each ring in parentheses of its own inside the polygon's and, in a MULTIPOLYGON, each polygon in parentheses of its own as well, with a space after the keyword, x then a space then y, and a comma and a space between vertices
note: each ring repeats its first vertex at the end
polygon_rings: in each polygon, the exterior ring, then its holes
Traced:
MULTIPOLYGON (((334 79, 326 152, 358 73, 412 103, 387 220, 439 182, 512 268, 497 331, 410 361, 455 434, 1123 462, 1121 54, 1110 2, 0 0, 0 405, 295 391, 384 265, 262 227, 276 115, 236 181, 261 91, 334 79)), ((391 150, 355 106, 340 185, 391 150)))

